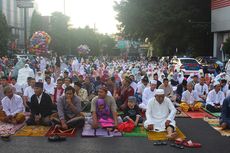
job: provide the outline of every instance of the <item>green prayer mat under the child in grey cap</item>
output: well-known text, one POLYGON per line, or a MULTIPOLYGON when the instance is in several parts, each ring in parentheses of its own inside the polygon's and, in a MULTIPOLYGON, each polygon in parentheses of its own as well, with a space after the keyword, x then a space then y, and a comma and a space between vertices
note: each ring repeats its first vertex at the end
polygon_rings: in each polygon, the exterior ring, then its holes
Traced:
POLYGON ((138 126, 132 132, 124 132, 124 137, 147 137, 147 131, 143 126, 138 126))

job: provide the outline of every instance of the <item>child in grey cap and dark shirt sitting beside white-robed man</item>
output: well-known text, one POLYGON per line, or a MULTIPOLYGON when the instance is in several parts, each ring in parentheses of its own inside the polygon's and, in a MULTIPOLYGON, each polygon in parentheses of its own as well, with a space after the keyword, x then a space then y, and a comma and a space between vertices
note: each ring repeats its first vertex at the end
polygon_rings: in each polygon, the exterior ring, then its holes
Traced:
POLYGON ((140 109, 136 104, 136 97, 130 96, 128 98, 128 107, 124 110, 123 121, 131 120, 134 122, 135 126, 138 123, 142 123, 143 119, 140 115, 140 109))

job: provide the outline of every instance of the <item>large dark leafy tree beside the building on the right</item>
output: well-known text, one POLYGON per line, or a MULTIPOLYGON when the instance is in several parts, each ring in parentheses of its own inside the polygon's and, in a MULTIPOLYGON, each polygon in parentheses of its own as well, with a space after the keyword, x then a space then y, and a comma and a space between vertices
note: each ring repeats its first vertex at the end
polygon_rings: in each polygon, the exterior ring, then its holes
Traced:
POLYGON ((155 53, 211 53, 210 0, 122 0, 114 9, 122 33, 148 37, 155 53))

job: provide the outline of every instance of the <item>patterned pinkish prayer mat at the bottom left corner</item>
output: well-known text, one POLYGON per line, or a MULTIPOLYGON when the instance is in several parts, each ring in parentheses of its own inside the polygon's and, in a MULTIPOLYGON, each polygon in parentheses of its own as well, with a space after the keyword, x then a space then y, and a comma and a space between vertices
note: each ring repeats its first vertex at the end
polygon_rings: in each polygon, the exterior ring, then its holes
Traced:
POLYGON ((8 123, 0 122, 0 136, 2 136, 2 135, 13 135, 19 129, 21 129, 24 125, 25 125, 25 123, 14 125, 14 124, 8 124, 8 123))

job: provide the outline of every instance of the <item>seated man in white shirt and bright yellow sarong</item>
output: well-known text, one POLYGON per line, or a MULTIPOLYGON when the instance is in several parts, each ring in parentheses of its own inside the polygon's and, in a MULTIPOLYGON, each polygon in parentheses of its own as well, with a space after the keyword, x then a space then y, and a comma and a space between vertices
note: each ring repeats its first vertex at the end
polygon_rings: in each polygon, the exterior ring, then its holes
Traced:
POLYGON ((180 108, 187 112, 189 110, 191 111, 197 111, 201 109, 202 103, 198 102, 198 94, 195 90, 193 90, 193 84, 192 82, 189 82, 187 84, 187 90, 183 92, 180 108))

